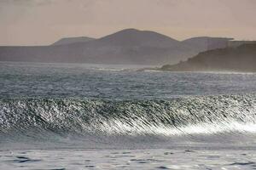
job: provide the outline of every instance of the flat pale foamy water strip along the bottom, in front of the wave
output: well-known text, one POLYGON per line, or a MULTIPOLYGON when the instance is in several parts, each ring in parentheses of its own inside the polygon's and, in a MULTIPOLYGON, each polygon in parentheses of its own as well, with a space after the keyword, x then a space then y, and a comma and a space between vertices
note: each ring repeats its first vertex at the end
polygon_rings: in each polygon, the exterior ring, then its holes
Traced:
POLYGON ((255 169, 253 150, 15 150, 1 169, 255 169))

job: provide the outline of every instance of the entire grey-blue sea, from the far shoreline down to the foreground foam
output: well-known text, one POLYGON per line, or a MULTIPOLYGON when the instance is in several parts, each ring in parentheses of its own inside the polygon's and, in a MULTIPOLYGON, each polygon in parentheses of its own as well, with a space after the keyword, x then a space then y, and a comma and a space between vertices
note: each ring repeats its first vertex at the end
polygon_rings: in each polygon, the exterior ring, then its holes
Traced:
POLYGON ((0 169, 256 169, 256 74, 0 62, 0 169))

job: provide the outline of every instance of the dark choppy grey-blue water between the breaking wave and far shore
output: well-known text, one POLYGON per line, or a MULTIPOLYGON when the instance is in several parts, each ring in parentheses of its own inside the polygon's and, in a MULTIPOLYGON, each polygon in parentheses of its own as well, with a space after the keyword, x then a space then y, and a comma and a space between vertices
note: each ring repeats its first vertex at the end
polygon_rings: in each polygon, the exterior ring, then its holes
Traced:
POLYGON ((2 98, 170 99, 256 91, 255 74, 136 71, 123 65, 0 64, 2 98))

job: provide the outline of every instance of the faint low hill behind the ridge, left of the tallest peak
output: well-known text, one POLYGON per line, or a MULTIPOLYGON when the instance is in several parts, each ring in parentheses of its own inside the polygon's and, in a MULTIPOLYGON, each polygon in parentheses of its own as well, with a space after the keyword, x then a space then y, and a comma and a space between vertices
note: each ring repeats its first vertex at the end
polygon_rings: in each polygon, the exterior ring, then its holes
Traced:
POLYGON ((91 40, 95 40, 95 38, 92 38, 92 37, 64 37, 64 38, 61 38, 59 41, 54 42, 51 45, 67 45, 67 44, 77 43, 77 42, 90 42, 91 40))

